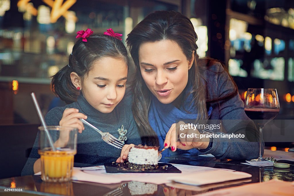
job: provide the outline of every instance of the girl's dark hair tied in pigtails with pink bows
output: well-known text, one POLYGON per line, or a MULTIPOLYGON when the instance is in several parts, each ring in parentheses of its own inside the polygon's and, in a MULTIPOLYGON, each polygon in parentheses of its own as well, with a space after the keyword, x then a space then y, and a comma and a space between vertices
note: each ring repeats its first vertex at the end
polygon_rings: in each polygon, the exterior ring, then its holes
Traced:
POLYGON ((80 92, 71 82, 71 72, 83 81, 93 63, 103 57, 121 58, 129 66, 128 52, 120 40, 108 35, 91 35, 87 42, 78 39, 69 55, 69 64, 51 76, 52 91, 67 104, 75 102, 80 92))

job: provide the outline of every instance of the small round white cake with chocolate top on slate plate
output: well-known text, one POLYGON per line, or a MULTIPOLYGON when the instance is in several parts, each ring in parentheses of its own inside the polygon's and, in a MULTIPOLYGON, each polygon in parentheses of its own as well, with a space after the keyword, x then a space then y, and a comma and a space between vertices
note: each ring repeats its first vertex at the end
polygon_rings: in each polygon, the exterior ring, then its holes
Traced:
POLYGON ((158 147, 137 145, 128 154, 128 167, 134 170, 158 168, 158 147))

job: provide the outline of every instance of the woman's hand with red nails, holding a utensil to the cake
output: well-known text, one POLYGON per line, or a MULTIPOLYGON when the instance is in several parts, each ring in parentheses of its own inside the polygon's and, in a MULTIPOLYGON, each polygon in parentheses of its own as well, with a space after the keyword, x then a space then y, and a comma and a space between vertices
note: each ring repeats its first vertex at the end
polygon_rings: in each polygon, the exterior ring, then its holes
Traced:
POLYGON ((184 129, 185 122, 180 121, 171 125, 171 128, 166 134, 166 139, 164 140, 164 147, 171 147, 174 152, 177 148, 182 150, 190 150, 191 148, 206 149, 208 147, 209 138, 200 138, 200 132, 198 129, 184 129), (180 129, 183 128, 183 130, 180 129), (186 137, 186 135, 193 134, 198 137, 186 137), (178 142, 178 138, 180 142, 178 142))

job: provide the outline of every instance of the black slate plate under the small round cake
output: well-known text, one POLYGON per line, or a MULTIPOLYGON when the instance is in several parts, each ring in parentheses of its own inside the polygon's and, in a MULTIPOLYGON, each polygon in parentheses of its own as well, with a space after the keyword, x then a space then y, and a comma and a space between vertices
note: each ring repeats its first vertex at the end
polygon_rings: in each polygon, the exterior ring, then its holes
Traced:
POLYGON ((104 166, 107 173, 181 173, 178 168, 168 163, 158 163, 157 169, 144 171, 129 169, 127 163, 104 163, 104 166))

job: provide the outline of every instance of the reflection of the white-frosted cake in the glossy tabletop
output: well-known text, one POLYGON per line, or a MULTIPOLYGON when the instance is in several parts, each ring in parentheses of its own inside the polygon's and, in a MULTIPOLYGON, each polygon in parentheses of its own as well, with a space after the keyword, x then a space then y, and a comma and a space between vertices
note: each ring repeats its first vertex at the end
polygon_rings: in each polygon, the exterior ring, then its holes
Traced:
POLYGON ((145 182, 129 182, 128 188, 130 190, 131 195, 145 195, 145 194, 153 194, 157 191, 157 185, 145 182))

